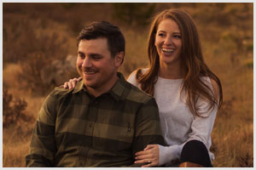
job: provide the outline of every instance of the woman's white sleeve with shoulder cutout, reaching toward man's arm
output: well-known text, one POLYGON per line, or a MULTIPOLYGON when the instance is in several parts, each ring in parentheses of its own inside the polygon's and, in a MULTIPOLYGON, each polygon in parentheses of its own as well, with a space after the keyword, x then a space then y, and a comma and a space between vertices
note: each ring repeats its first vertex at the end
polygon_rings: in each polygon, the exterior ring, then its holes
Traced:
MULTIPOLYGON (((211 133, 215 117, 217 115, 218 106, 215 105, 212 111, 207 111, 209 104, 206 100, 201 99, 198 103, 200 112, 204 112, 205 114, 201 116, 194 116, 194 120, 191 124, 191 133, 189 133, 189 139, 185 140, 183 144, 174 144, 171 146, 159 145, 160 165, 180 159, 183 145, 189 140, 199 140, 206 145, 207 150, 210 149, 212 144, 211 133)), ((213 159, 213 157, 211 159, 213 159)))

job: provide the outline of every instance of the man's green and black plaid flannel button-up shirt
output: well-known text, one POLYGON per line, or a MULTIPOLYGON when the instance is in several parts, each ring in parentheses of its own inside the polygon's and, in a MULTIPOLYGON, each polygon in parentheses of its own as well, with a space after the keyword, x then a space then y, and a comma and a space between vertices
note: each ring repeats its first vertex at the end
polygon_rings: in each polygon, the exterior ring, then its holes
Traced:
POLYGON ((55 88, 32 133, 27 167, 140 167, 135 153, 163 144, 157 104, 121 73, 108 93, 91 96, 84 82, 55 88))

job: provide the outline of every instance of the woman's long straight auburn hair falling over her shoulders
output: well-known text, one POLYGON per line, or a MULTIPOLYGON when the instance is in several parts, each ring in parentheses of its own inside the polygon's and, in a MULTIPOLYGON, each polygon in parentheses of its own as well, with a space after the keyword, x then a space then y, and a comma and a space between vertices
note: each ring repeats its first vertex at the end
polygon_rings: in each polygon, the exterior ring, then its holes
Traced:
POLYGON ((187 94, 186 103, 189 110, 196 116, 201 116, 196 106, 199 98, 207 99, 210 103, 209 110, 218 105, 220 108, 223 101, 222 86, 218 77, 206 65, 201 52, 201 43, 192 18, 181 9, 166 9, 154 17, 148 37, 148 59, 149 66, 145 73, 141 69, 137 70, 137 82, 141 83, 141 88, 148 94, 154 95, 154 84, 157 82, 160 69, 160 57, 154 46, 155 35, 162 20, 171 19, 177 22, 182 35, 181 63, 185 71, 183 77, 182 91, 187 94), (214 95, 214 90, 204 82, 201 77, 210 77, 218 84, 218 99, 214 95))

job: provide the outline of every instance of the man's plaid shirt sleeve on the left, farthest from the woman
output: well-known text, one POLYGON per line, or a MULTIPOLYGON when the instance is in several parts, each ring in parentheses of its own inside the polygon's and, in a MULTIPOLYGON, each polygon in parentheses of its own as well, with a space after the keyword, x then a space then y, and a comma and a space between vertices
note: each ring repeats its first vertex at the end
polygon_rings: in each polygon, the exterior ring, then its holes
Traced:
POLYGON ((55 156, 55 99, 49 95, 39 111, 32 132, 27 167, 54 167, 55 156))

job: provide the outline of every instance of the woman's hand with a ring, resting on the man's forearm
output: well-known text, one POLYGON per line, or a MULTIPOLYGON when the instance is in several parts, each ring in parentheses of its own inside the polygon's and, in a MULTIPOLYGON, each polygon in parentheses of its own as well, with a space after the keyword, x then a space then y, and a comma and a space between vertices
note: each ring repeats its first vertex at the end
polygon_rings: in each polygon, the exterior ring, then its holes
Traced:
POLYGON ((157 167, 159 166, 159 147, 158 144, 148 144, 143 151, 138 151, 135 154, 134 163, 147 163, 142 167, 157 167))

